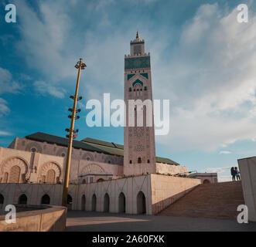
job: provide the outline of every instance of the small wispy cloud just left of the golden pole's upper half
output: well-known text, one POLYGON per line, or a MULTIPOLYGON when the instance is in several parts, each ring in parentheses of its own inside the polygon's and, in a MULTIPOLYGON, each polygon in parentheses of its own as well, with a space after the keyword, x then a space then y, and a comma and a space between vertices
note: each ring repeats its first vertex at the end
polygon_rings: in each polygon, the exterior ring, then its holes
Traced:
POLYGON ((65 95, 65 90, 56 88, 56 86, 51 85, 43 81, 36 81, 33 83, 35 90, 43 95, 49 94, 57 98, 63 98, 65 95))

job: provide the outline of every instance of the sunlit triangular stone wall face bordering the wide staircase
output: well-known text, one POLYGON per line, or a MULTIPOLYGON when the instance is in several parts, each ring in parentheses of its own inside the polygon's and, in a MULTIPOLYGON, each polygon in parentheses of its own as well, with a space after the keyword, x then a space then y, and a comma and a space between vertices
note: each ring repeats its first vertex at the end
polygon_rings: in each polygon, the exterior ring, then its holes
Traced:
POLYGON ((200 179, 151 174, 152 214, 167 208, 199 184, 200 179))

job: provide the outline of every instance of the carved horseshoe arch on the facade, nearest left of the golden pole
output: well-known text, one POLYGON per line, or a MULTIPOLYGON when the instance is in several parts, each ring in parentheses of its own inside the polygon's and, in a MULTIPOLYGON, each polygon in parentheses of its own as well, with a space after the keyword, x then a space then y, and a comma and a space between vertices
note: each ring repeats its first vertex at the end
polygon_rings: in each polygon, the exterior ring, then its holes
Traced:
POLYGON ((46 182, 49 184, 55 184, 60 180, 61 169, 55 162, 48 162, 43 164, 39 170, 39 182, 46 182))

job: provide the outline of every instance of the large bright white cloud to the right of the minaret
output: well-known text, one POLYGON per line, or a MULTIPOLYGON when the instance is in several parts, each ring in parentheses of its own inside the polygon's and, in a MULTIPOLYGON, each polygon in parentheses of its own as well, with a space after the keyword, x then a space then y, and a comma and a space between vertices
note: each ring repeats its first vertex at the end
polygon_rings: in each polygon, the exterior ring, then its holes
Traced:
POLYGON ((155 63, 155 98, 171 97, 171 128, 156 137, 172 150, 213 151, 256 137, 256 15, 202 5, 182 29, 169 63, 155 63), (155 85, 161 82, 161 86, 155 85))

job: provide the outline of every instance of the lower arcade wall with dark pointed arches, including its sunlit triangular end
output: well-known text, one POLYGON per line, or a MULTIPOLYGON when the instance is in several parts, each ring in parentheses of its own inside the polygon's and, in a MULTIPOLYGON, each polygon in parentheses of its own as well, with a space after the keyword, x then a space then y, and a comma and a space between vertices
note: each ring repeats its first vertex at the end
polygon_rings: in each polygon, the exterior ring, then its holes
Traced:
MULTIPOLYGON (((152 215, 176 201, 197 184, 200 184, 198 179, 157 174, 91 184, 70 184, 68 208, 152 215)), ((43 198, 46 195, 50 205, 61 205, 62 185, 0 184, 2 208, 9 204, 19 204, 24 198, 29 205, 45 204, 43 198)))

